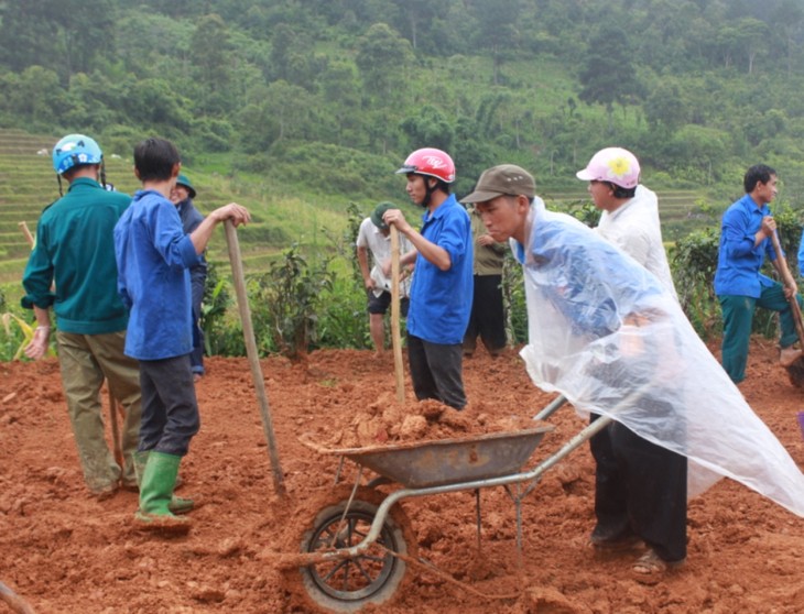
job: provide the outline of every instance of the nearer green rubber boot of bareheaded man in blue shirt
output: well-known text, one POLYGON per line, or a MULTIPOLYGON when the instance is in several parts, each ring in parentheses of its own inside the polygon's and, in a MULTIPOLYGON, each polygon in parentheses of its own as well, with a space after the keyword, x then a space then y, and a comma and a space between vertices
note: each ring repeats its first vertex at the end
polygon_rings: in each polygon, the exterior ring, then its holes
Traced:
POLYGON ((140 484, 140 508, 134 514, 142 528, 189 529, 189 518, 176 516, 171 509, 173 487, 176 485, 182 457, 151 451, 140 484))

